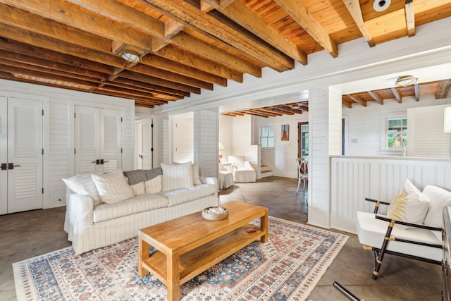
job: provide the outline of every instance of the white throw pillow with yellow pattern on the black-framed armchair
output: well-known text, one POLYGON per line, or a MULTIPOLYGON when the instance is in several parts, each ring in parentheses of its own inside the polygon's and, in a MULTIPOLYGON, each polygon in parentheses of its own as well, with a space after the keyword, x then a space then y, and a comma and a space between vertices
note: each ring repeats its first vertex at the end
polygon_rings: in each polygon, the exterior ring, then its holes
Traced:
POLYGON ((404 188, 397 192, 388 206, 387 216, 397 221, 424 223, 428 206, 428 197, 406 179, 404 188))

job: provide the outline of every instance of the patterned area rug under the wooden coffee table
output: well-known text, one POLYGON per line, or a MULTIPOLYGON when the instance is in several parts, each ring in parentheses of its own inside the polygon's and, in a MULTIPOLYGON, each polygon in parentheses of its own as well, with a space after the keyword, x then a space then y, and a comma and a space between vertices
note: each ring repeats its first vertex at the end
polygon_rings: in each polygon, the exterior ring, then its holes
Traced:
MULTIPOLYGON (((253 242, 180 287, 181 300, 305 300, 346 235, 269 217, 253 242)), ((72 247, 13 264, 18 300, 166 300, 137 269, 137 238, 75 256, 72 247)))

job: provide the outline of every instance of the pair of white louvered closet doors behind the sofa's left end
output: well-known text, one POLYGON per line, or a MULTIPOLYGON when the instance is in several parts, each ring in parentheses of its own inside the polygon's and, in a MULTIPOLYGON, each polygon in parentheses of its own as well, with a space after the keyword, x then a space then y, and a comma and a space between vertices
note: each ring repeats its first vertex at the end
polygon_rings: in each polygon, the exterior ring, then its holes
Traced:
POLYGON ((75 106, 75 173, 122 168, 122 112, 75 106))

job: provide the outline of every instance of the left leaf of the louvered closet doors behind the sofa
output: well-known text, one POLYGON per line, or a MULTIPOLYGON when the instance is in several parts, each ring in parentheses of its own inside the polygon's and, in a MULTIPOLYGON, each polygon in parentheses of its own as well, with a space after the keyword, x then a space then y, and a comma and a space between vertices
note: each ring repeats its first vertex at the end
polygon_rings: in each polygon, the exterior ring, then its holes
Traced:
POLYGON ((75 106, 75 173, 101 169, 99 118, 99 108, 75 106))

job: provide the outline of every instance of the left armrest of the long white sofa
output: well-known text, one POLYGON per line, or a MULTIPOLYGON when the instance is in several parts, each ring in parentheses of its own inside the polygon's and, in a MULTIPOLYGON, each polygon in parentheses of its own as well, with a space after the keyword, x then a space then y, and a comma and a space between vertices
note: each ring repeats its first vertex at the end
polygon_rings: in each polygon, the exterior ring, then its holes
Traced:
POLYGON ((72 240, 74 233, 79 233, 83 228, 92 225, 94 200, 89 195, 80 195, 68 189, 66 193, 66 220, 64 231, 72 240))

